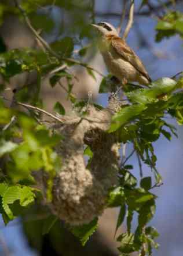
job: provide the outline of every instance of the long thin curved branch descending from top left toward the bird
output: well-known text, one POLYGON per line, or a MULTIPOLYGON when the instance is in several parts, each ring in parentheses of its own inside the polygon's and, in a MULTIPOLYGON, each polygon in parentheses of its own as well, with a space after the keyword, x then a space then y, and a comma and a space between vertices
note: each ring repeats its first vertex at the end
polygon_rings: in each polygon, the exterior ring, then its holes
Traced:
POLYGON ((72 62, 75 63, 76 65, 79 66, 83 66, 86 67, 87 69, 93 70, 94 72, 96 72, 97 74, 100 74, 100 76, 104 77, 104 74, 100 73, 98 70, 94 69, 94 67, 91 67, 89 65, 87 65, 86 63, 83 62, 79 62, 76 61, 75 59, 72 58, 62 58, 60 55, 58 55, 56 52, 53 51, 53 49, 50 47, 49 44, 47 44, 47 42, 45 40, 43 40, 43 38, 41 37, 41 35, 39 35, 37 33, 37 31, 34 29, 34 27, 32 27, 32 24, 30 22, 30 19, 27 16, 27 13, 25 12, 25 10, 23 8, 21 8, 21 6, 19 5, 19 2, 17 0, 14 0, 14 3, 16 5, 16 7, 20 10, 20 12, 23 14, 25 22, 27 23, 27 26, 30 28, 30 30, 32 31, 32 33, 35 35, 35 37, 41 42, 41 44, 43 45, 43 47, 45 47, 45 49, 54 57, 56 57, 57 59, 60 59, 61 61, 65 61, 65 62, 72 62))

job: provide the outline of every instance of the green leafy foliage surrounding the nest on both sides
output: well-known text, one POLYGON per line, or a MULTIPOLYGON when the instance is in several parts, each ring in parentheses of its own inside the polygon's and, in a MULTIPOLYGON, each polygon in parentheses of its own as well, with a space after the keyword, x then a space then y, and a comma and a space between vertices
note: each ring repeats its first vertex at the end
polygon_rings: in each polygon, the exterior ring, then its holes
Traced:
MULTIPOLYGON (((22 215, 24 209, 31 205, 35 198, 40 199, 40 191, 42 193, 43 191, 41 184, 38 186, 35 182, 35 173, 45 172, 46 199, 47 202, 51 202, 53 180, 61 169, 62 159, 58 157, 55 147, 65 143, 62 141, 64 137, 52 133, 49 127, 40 122, 41 112, 38 111, 38 107, 42 106, 41 81, 49 76, 50 86, 54 87, 64 77, 68 85, 66 89, 68 99, 74 104, 75 109, 80 108, 81 116, 87 116, 85 109, 87 103, 77 101, 71 93, 73 75, 69 72, 70 66, 79 64, 94 77, 93 68, 83 63, 81 59, 90 49, 88 46, 83 47, 83 41, 93 43, 93 32, 89 29, 90 20, 87 19, 87 12, 93 12, 93 10, 87 2, 90 1, 55 1, 58 8, 71 12, 71 23, 67 24, 67 33, 60 30, 59 36, 49 44, 50 48, 42 45, 43 47, 38 49, 21 48, 6 51, 5 44, 0 38, 0 74, 4 81, 0 87, 2 95, 0 101, 0 212, 5 224, 16 216, 22 215), (83 15, 80 15, 81 10, 83 15), (75 27, 72 27, 73 20, 75 27), (76 48, 79 48, 77 56, 74 51, 76 48), (60 66, 63 66, 63 69, 57 70, 60 66), (33 84, 25 83, 19 90, 14 91, 13 101, 18 105, 23 102, 30 103, 35 108, 29 108, 30 105, 27 105, 28 111, 25 111, 26 105, 22 105, 25 106, 24 111, 9 108, 8 99, 3 96, 7 82, 18 74, 33 71, 37 74, 37 80, 33 84)), ((141 7, 147 2, 142 1, 141 7)), ((48 6, 52 3, 53 1, 49 0, 23 0, 20 8, 17 8, 2 1, 0 23, 3 22, 7 13, 13 13, 21 20, 25 14, 36 30, 41 29, 48 33, 53 30, 54 21, 52 17, 39 13, 38 10, 39 6, 48 6)), ((156 30, 156 41, 175 34, 179 34, 182 38, 182 13, 175 11, 167 13, 159 20, 156 30)), ((118 88, 118 85, 116 86, 109 75, 103 78, 100 93, 116 91, 116 87, 118 88)), ((152 189, 162 184, 162 177, 156 169, 157 159, 153 143, 160 136, 164 136, 167 140, 171 140, 173 134, 177 136, 175 127, 167 123, 165 117, 169 115, 177 120, 179 125, 183 124, 182 88, 182 77, 178 80, 163 77, 153 81, 148 88, 127 84, 124 87, 126 104, 122 104, 119 111, 112 117, 108 134, 115 134, 119 143, 133 144, 140 163, 145 163, 154 176, 153 178, 148 173, 147 176, 141 177, 140 186, 138 186, 137 177, 134 176, 135 168, 126 164, 130 159, 126 158, 119 168, 119 186, 109 191, 107 206, 120 209, 115 234, 126 220, 127 232, 120 234, 117 238, 120 242, 118 249, 122 254, 138 251, 141 256, 152 255, 152 248, 158 248, 158 244, 154 241, 158 237, 158 232, 154 227, 148 226, 156 209, 156 195, 152 193, 152 189), (135 213, 138 215, 138 224, 135 232, 132 233, 131 222, 135 213)), ((101 108, 99 106, 98 111, 101 108)), ((65 115, 64 106, 60 102, 55 102, 53 111, 58 115, 65 115)), ((83 154, 90 158, 89 164, 93 158, 92 149, 86 147, 83 154)), ((142 176, 143 173, 140 175, 142 176)), ((42 233, 49 232, 56 221, 57 218, 50 215, 43 225, 42 233)), ((97 218, 82 226, 69 226, 68 229, 84 246, 97 229, 97 218)))

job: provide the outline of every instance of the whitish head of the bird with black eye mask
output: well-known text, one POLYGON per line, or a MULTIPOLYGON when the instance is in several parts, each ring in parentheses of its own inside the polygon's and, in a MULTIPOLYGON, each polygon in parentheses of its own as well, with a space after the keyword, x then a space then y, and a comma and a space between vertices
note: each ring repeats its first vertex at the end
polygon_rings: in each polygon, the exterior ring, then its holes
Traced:
POLYGON ((115 27, 107 22, 99 22, 97 24, 92 24, 92 26, 95 27, 102 36, 111 34, 118 36, 118 32, 116 31, 115 27))

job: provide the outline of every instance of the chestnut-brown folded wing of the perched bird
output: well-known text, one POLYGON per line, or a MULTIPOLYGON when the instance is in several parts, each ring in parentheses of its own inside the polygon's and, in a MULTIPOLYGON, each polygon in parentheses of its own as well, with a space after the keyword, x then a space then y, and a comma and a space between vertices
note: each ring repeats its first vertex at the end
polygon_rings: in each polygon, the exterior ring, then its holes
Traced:
POLYGON ((148 75, 147 70, 145 69, 143 63, 140 58, 134 53, 134 51, 126 44, 124 40, 120 37, 111 38, 111 45, 114 50, 122 56, 123 59, 130 62, 132 66, 134 66, 139 73, 145 76, 149 82, 151 82, 151 78, 148 75))

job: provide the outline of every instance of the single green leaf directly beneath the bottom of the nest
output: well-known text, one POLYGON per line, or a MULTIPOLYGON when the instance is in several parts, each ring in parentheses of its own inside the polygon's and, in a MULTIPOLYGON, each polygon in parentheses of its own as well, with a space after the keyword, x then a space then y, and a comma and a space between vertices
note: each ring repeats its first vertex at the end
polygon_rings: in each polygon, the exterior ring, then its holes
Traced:
POLYGON ((89 224, 83 224, 82 226, 71 227, 71 232, 79 238, 82 246, 85 246, 89 237, 97 230, 98 218, 93 219, 89 224))

